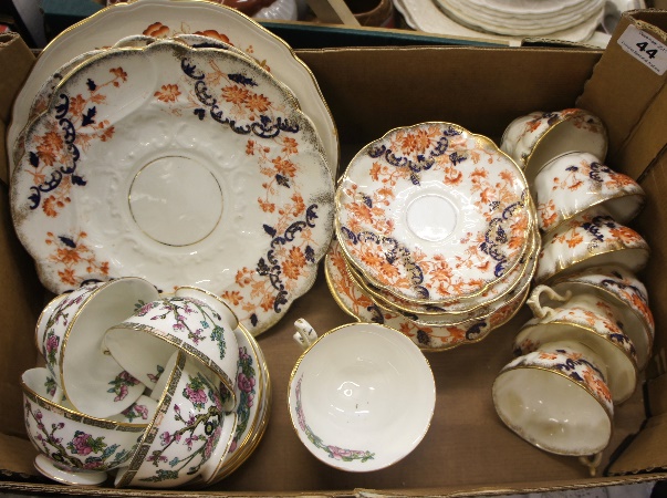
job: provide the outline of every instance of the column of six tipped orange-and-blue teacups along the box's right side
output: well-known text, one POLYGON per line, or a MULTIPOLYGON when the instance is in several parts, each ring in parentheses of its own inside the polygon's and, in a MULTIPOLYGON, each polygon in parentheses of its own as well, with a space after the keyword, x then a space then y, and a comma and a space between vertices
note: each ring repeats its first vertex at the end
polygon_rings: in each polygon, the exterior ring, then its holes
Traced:
POLYGON ((543 235, 528 299, 534 317, 493 384, 496 408, 542 449, 598 455, 614 405, 635 392, 653 346, 648 298, 635 276, 649 249, 622 225, 638 214, 644 191, 602 164, 605 128, 582 110, 518 118, 502 148, 525 168, 543 235))

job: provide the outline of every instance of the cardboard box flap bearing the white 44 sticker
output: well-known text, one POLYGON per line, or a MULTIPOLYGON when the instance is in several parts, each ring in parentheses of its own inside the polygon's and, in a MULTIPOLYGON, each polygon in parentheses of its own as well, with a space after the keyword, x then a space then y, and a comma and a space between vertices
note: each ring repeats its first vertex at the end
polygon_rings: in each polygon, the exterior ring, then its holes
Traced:
POLYGON ((607 164, 634 178, 645 172, 667 143, 667 136, 657 133, 667 108, 664 13, 624 13, 576 102, 607 126, 607 164))

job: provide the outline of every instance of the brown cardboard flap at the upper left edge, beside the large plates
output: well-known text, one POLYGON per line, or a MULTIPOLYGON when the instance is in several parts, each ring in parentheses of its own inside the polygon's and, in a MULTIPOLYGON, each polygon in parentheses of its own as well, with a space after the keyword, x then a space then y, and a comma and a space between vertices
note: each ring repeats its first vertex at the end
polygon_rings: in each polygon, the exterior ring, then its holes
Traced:
POLYGON ((18 33, 0 34, 0 68, 12 73, 12 77, 0 77, 0 181, 4 184, 9 181, 6 158, 11 147, 6 147, 6 127, 10 123, 14 95, 23 85, 32 64, 34 55, 18 33))

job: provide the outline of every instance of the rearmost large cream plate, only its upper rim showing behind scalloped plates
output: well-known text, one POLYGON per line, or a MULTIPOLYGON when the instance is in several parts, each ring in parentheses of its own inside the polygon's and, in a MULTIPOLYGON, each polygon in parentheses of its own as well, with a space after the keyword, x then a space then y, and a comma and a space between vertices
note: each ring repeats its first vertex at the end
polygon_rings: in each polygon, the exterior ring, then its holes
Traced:
MULTIPOLYGON (((320 134, 332 178, 338 166, 335 123, 310 71, 280 38, 236 9, 206 0, 142 0, 107 7, 55 37, 38 58, 17 95, 7 144, 11 148, 27 124, 30 105, 42 83, 76 55, 112 46, 121 38, 176 34, 219 38, 242 50, 296 94, 303 112, 320 134)), ((10 158, 11 159, 11 158, 10 158)), ((14 165, 10 164, 10 173, 14 165)))

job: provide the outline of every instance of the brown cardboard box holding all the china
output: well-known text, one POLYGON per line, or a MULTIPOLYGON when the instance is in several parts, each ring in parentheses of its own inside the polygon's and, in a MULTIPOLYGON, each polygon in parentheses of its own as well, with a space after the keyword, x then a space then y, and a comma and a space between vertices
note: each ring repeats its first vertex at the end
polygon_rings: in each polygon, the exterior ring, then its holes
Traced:
MULTIPOLYGON (((618 43, 628 29, 638 29, 665 44, 667 11, 633 15, 623 18, 604 54, 580 49, 470 46, 299 52, 332 110, 343 166, 361 146, 386 131, 425 121, 457 123, 494 139, 514 117, 536 110, 581 105, 607 121, 607 163, 638 178, 649 196, 634 226, 653 248, 640 277, 652 298, 657 338, 646 381, 616 409, 613 438, 597 475, 592 477, 576 458, 534 448, 496 415, 491 384, 512 357, 513 335, 530 317, 525 309, 480 343, 428 354, 437 385, 436 412, 426 438, 404 460, 368 474, 343 473, 321 464, 299 442, 286 407, 289 374, 300 354, 291 339, 294 320, 304 317, 320 331, 351 321, 320 276, 282 321, 259 338, 273 387, 263 440, 244 465, 207 492, 352 496, 373 489, 387 495, 491 495, 667 478, 667 204, 663 201, 667 191, 667 156, 663 154, 667 75, 657 74, 640 60, 642 54, 630 54, 618 43)), ((0 66, 12 68, 0 80, 0 117, 7 123, 10 92, 25 76, 31 54, 20 40, 0 46, 0 66)), ((33 329, 49 297, 13 234, 6 185, 0 187, 0 468, 4 469, 0 491, 169 496, 169 491, 149 489, 63 487, 37 475, 35 450, 24 435, 19 377, 38 362, 33 329)), ((200 492, 191 491, 191 496, 200 492)), ((178 496, 185 494, 178 491, 178 496)))

